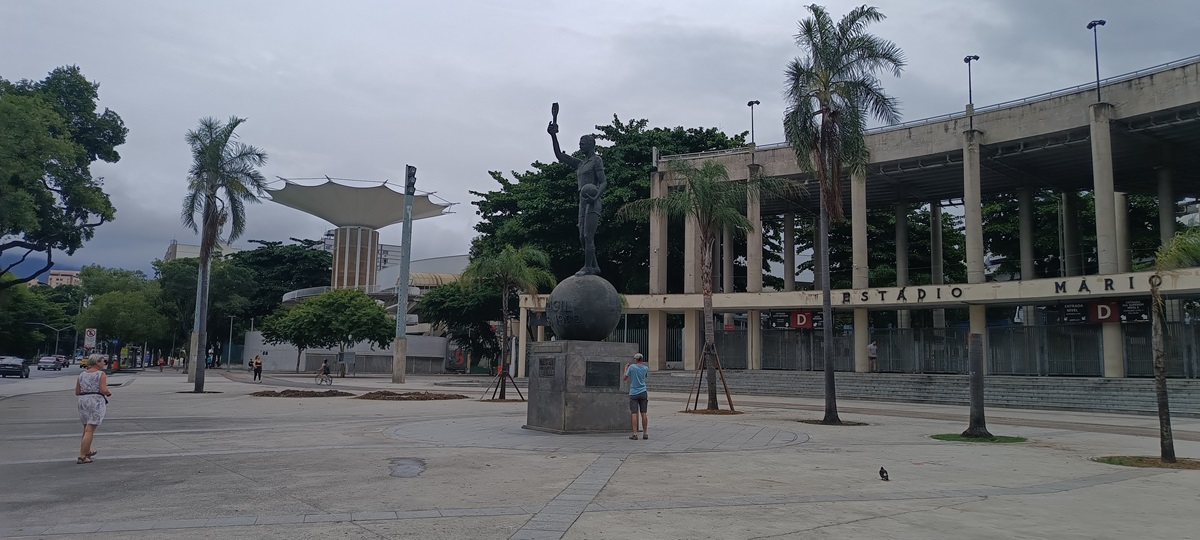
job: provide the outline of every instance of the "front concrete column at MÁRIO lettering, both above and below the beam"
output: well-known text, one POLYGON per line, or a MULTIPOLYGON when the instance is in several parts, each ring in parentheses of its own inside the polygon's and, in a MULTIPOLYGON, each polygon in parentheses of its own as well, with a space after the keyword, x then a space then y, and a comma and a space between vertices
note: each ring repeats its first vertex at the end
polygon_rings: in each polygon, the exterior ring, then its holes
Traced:
MULTIPOLYGON (((1112 106, 1088 107, 1092 139, 1092 196, 1096 199, 1096 257, 1102 275, 1117 272, 1116 193, 1112 191, 1112 134, 1109 119, 1112 106)), ((1124 347, 1121 323, 1100 325, 1104 344, 1104 377, 1124 377, 1124 347)))

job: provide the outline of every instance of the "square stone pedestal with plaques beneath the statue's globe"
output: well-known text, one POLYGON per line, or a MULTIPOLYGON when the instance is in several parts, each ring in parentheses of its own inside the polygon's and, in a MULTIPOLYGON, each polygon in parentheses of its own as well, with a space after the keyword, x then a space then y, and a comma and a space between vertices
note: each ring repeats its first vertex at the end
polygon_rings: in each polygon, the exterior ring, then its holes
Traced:
POLYGON ((550 433, 629 431, 629 383, 636 343, 546 341, 529 343, 527 430, 550 433))

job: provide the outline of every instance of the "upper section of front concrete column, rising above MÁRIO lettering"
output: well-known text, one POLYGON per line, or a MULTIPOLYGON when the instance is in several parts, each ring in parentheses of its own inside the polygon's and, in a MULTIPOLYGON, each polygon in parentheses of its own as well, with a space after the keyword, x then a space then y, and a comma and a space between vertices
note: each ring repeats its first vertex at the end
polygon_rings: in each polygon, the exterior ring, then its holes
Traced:
POLYGON ((1093 103, 1088 110, 1092 136, 1092 196, 1096 200, 1096 257, 1100 274, 1116 274, 1116 194, 1112 192, 1112 136, 1109 131, 1112 106, 1093 103))

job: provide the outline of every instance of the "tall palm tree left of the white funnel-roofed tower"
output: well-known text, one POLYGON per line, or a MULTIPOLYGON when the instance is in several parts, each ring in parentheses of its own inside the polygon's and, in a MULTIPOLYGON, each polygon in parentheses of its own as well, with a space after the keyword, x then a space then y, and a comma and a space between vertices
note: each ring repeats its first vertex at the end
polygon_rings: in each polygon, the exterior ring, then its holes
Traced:
POLYGON ((192 324, 192 370, 196 391, 204 391, 204 354, 209 317, 209 274, 212 250, 221 229, 228 224, 227 242, 236 240, 246 229, 246 203, 258 203, 265 179, 258 167, 266 163, 266 152, 238 140, 234 130, 246 119, 229 116, 222 124, 215 118, 200 119, 196 130, 187 132, 192 149, 192 167, 187 170, 187 194, 184 197, 182 221, 200 233, 200 260, 196 286, 196 320, 192 324))

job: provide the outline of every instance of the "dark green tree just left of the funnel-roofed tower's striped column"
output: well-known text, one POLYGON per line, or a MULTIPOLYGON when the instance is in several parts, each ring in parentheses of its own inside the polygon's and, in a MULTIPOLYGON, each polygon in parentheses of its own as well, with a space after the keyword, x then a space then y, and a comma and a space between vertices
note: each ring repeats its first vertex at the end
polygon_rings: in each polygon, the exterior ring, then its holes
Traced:
POLYGON ((294 244, 251 240, 253 250, 240 251, 228 258, 250 271, 256 287, 248 293, 250 305, 245 317, 262 318, 275 312, 282 304, 283 294, 307 287, 329 284, 332 254, 316 250, 318 240, 300 240, 294 244))

